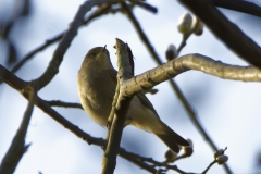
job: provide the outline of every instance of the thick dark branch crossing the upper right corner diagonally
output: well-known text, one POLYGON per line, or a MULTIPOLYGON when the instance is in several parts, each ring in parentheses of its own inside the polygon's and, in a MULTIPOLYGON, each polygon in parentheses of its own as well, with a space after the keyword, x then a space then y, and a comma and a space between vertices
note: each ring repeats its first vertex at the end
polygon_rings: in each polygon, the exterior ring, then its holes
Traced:
POLYGON ((209 0, 179 0, 194 12, 231 50, 254 66, 261 67, 260 47, 229 22, 209 0))

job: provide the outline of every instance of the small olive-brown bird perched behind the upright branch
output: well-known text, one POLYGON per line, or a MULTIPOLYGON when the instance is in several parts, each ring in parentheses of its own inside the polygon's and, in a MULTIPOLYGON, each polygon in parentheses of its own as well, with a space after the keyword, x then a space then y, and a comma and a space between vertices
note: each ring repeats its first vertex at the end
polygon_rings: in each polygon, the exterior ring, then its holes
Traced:
MULTIPOLYGON (((80 103, 88 115, 101 126, 107 126, 115 94, 117 72, 114 70, 105 47, 90 49, 78 71, 77 89, 80 103)), ((136 94, 126 114, 126 125, 133 125, 154 134, 172 151, 188 141, 163 123, 144 92, 136 94)))

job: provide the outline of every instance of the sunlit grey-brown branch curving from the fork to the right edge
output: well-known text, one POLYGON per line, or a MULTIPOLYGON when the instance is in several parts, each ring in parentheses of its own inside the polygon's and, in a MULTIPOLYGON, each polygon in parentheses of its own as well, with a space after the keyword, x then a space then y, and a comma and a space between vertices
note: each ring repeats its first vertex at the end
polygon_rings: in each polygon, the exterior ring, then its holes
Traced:
POLYGON ((189 70, 201 71, 224 79, 244 82, 261 80, 261 70, 258 67, 228 65, 206 55, 187 54, 127 80, 122 87, 121 92, 124 92, 124 96, 133 95, 149 89, 189 70))

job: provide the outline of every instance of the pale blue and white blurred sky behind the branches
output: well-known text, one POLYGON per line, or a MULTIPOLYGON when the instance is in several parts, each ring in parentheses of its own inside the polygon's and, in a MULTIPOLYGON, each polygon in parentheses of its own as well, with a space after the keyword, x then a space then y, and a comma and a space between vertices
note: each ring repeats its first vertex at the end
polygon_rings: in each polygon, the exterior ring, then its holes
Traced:
MULTIPOLYGON (((12 16, 14 0, 0 1, 0 20, 12 16)), ((21 18, 11 30, 11 39, 17 48, 18 59, 65 30, 72 22, 83 0, 45 0, 32 1, 32 14, 21 18)), ((170 44, 178 47, 182 35, 177 32, 178 17, 187 10, 177 1, 150 0, 158 8, 152 14, 135 8, 149 40, 161 60, 165 62, 164 51, 170 44)), ((260 1, 254 1, 261 5, 260 1)), ((261 20, 248 14, 220 9, 226 17, 261 45, 261 20)), ((135 57, 135 74, 140 74, 157 66, 145 45, 139 39, 128 18, 122 14, 109 14, 82 27, 64 55, 59 74, 39 96, 46 100, 79 102, 77 95, 77 72, 86 52, 92 47, 107 45, 111 60, 116 69, 116 55, 113 46, 115 38, 126 41, 135 57)), ((24 80, 38 78, 51 60, 57 44, 37 53, 16 75, 24 80)), ((7 44, 0 39, 0 63, 7 67, 7 44)), ((222 41, 204 27, 202 36, 192 35, 181 55, 200 53, 227 64, 248 65, 222 41)), ((189 71, 175 82, 197 111, 200 122, 219 148, 225 148, 229 157, 228 165, 234 173, 260 173, 257 156, 261 152, 261 84, 221 79, 208 74, 189 71)), ((147 95, 157 112, 175 132, 194 142, 194 154, 176 162, 186 172, 202 172, 213 161, 213 151, 190 122, 184 107, 178 101, 169 83, 156 86, 157 95, 147 95)), ((15 135, 27 101, 5 84, 0 85, 0 159, 7 152, 15 135)), ((91 121, 85 111, 78 109, 54 108, 61 115, 95 137, 105 137, 107 129, 91 121)), ((66 128, 58 124, 38 108, 34 109, 26 142, 32 142, 24 154, 15 174, 84 174, 100 173, 103 151, 100 147, 89 146, 66 128)), ((128 126, 124 129, 121 146, 126 150, 152 157, 163 161, 166 146, 154 135, 128 126)), ((117 158, 116 174, 145 174, 130 162, 117 158)), ((175 172, 169 172, 175 173, 175 172)), ((224 173, 220 165, 211 167, 210 173, 224 173)))

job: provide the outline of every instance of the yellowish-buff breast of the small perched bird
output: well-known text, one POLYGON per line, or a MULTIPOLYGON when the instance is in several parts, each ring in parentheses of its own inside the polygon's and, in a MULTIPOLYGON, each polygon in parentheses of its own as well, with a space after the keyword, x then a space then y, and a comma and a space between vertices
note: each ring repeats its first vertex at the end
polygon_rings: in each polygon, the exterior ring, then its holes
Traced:
POLYGON ((96 73, 78 78, 78 92, 85 111, 98 124, 105 126, 116 84, 107 74, 96 73))

